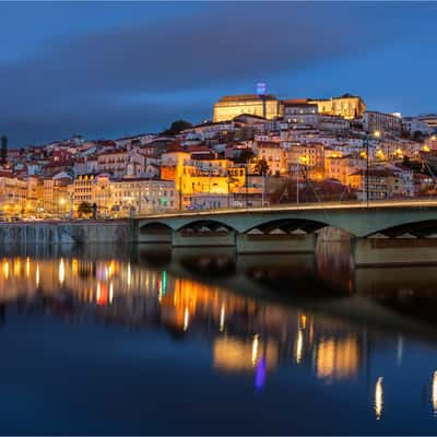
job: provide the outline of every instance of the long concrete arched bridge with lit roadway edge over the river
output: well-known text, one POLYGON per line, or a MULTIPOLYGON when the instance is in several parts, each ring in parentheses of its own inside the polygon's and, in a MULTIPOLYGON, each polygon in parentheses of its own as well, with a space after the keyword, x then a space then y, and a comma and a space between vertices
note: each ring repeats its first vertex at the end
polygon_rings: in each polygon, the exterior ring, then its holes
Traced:
POLYGON ((359 265, 437 263, 437 201, 432 199, 156 213, 138 218, 138 240, 233 246, 238 253, 308 252, 323 228, 351 238, 359 265))

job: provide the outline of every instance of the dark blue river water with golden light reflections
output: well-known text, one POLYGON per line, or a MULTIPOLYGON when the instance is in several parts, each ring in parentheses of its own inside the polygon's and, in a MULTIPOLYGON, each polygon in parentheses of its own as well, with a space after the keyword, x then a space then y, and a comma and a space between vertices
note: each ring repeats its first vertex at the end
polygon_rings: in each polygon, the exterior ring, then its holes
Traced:
POLYGON ((437 269, 347 244, 0 253, 1 434, 436 434, 437 269))

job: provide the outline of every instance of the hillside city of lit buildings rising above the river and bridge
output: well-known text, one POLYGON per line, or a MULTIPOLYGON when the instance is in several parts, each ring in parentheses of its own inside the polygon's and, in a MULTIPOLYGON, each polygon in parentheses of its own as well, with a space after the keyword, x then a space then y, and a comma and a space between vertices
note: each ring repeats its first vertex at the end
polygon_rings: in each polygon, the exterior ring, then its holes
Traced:
POLYGON ((177 120, 161 133, 75 134, 20 150, 3 135, 1 216, 114 218, 436 193, 436 114, 383 114, 351 94, 280 99, 263 83, 256 91, 220 98, 212 120, 177 120))

